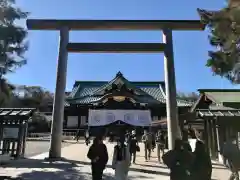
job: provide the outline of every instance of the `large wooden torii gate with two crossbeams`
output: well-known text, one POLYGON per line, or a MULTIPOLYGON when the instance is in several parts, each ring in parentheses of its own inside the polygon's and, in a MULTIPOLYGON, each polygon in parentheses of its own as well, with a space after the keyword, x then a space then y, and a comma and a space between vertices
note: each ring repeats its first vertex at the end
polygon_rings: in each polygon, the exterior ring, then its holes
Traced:
POLYGON ((65 101, 68 52, 74 53, 160 53, 164 52, 168 143, 172 149, 180 136, 177 117, 176 82, 172 30, 203 30, 199 20, 27 20, 29 30, 60 31, 57 81, 53 104, 49 158, 61 157, 61 135, 65 101), (162 30, 163 43, 69 43, 71 30, 162 30))

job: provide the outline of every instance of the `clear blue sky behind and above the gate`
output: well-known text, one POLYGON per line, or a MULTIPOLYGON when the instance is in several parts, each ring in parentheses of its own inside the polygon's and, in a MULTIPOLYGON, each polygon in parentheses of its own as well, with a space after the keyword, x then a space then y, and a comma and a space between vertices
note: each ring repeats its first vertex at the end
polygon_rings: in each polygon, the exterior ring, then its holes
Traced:
MULTIPOLYGON (((29 18, 56 19, 199 19, 197 8, 219 9, 225 0, 17 0, 29 18)), ((29 31, 28 64, 8 75, 16 84, 54 91, 58 56, 56 31, 29 31)), ((177 89, 239 88, 212 76, 205 67, 211 49, 205 32, 174 32, 177 89)), ((159 31, 71 32, 72 42, 161 42, 159 31)), ((67 90, 75 80, 111 80, 118 71, 132 81, 164 80, 162 54, 69 54, 67 90)))

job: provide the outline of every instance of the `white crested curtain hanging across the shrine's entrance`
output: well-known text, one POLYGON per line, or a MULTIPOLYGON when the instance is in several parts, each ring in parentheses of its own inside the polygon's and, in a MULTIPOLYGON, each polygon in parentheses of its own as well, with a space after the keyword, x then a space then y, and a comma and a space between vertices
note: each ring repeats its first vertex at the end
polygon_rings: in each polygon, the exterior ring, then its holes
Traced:
POLYGON ((104 126, 115 121, 122 121, 134 126, 150 126, 149 110, 89 110, 89 126, 104 126))

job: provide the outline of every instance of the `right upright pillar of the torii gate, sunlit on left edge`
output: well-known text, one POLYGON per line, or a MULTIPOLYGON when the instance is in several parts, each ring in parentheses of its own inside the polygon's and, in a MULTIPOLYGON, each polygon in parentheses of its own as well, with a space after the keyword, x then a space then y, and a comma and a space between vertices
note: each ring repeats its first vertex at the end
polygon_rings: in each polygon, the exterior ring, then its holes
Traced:
POLYGON ((178 124, 173 40, 171 29, 163 30, 163 43, 166 44, 164 51, 164 75, 166 86, 168 148, 171 150, 174 148, 175 139, 181 137, 178 124))

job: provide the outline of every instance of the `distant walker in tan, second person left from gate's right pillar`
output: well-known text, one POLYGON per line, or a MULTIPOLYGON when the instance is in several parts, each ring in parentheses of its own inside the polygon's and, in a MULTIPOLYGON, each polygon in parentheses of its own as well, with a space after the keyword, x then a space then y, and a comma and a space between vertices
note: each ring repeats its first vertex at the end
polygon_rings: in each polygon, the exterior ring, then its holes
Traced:
POLYGON ((142 141, 144 143, 145 161, 147 161, 150 160, 152 151, 152 135, 147 130, 144 131, 142 141))

